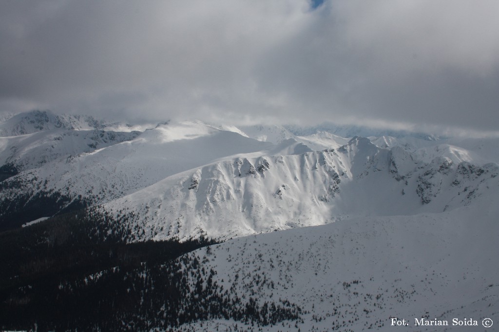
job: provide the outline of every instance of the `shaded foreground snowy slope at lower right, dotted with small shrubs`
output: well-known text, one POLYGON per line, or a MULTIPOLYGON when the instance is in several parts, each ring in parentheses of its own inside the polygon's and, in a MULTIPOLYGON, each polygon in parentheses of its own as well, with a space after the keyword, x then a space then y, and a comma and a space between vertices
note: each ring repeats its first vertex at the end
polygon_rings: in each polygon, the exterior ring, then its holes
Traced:
POLYGON ((200 249, 190 255, 242 306, 250 298, 260 307, 289 301, 304 314, 275 326, 214 320, 179 331, 497 331, 482 321, 498 320, 498 215, 486 199, 452 212, 350 218, 200 249), (409 326, 390 326, 394 317, 409 326), (415 326, 421 318, 450 326, 415 326), (453 327, 454 318, 479 327, 453 327))

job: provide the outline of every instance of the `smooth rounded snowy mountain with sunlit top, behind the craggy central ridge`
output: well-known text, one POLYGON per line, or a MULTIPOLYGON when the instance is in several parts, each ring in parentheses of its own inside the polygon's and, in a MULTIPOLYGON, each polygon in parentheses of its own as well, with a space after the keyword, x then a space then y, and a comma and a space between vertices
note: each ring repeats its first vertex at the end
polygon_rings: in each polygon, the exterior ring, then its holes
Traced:
POLYGON ((57 188, 67 183, 74 193, 91 190, 100 200, 108 200, 120 195, 115 188, 130 193, 227 154, 270 145, 202 124, 160 126, 131 141, 79 155, 48 177, 57 188))

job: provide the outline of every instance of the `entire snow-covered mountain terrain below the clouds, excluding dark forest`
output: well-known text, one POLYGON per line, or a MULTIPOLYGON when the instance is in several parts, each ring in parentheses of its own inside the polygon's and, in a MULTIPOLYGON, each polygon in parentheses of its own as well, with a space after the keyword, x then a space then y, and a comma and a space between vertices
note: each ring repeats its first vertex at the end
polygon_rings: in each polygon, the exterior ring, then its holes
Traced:
MULTIPOLYGON (((188 255, 241 306, 301 308, 296 324, 263 331, 385 331, 389 317, 496 314, 497 137, 134 126, 49 111, 3 120, 0 136, 0 229, 87 208, 114 223, 104 237, 124 242, 238 237, 188 255)), ((183 328, 238 323, 193 324, 183 328)))

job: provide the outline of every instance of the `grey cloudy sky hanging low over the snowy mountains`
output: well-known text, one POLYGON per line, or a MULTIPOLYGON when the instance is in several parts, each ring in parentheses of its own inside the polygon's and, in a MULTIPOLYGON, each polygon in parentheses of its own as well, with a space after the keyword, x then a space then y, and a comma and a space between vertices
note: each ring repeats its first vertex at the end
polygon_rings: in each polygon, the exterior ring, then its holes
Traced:
POLYGON ((498 17, 497 0, 3 0, 0 111, 494 131, 498 17))

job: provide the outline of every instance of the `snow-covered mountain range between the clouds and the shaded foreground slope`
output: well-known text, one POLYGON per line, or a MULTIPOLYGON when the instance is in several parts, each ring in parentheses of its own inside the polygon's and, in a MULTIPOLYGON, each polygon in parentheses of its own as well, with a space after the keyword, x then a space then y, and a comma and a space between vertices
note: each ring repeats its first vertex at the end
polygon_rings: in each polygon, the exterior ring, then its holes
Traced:
MULTIPOLYGON (((36 111, 3 125, 40 116, 49 124, 64 118, 36 111)), ((127 239, 133 241, 437 213, 497 195, 497 144, 324 131, 296 136, 276 125, 199 121, 132 132, 40 126, 0 138, 0 218, 26 223, 94 206, 135 229, 127 239), (44 208, 32 209, 41 198, 44 208)))

